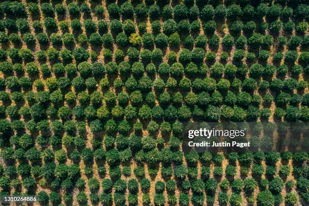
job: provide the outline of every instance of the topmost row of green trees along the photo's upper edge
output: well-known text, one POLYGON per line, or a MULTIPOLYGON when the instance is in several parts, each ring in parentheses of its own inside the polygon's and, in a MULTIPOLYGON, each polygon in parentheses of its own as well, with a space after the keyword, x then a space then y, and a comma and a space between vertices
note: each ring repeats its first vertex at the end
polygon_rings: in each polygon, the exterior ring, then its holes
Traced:
MULTIPOLYGON (((236 2, 236 4, 226 3, 223 5, 211 4, 205 5, 205 3, 194 5, 194 1, 186 1, 185 4, 176 4, 174 7, 169 5, 169 2, 163 1, 155 4, 155 1, 147 1, 146 5, 137 2, 134 6, 130 2, 122 2, 119 5, 115 3, 107 3, 107 11, 99 4, 96 5, 92 12, 96 15, 102 15, 105 12, 109 13, 112 18, 119 18, 123 16, 125 18, 132 18, 134 15, 138 18, 145 18, 149 16, 151 19, 157 19, 161 15, 165 18, 171 18, 174 16, 176 19, 192 18, 196 19, 200 17, 204 20, 213 19, 236 19, 242 17, 243 19, 259 18, 262 19, 266 16, 269 19, 277 19, 281 17, 288 19, 289 17, 307 18, 307 11, 305 10, 305 4, 298 4, 296 7, 291 5, 290 7, 284 7, 282 1, 270 3, 253 3, 243 4, 242 2, 236 2), (241 5, 241 6, 239 6, 241 5)), ((30 3, 25 7, 24 4, 19 2, 3 2, 0 5, 1 13, 15 15, 17 17, 27 16, 28 12, 37 16, 40 12, 45 18, 54 17, 55 13, 59 16, 69 13, 70 17, 74 18, 83 14, 89 16, 91 9, 88 4, 69 3, 67 9, 63 4, 56 4, 53 6, 49 3, 43 3, 38 5, 36 3, 30 3)))

